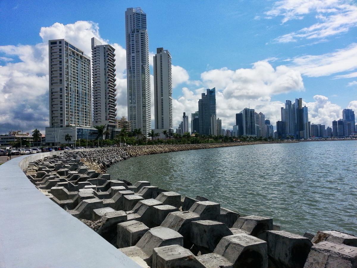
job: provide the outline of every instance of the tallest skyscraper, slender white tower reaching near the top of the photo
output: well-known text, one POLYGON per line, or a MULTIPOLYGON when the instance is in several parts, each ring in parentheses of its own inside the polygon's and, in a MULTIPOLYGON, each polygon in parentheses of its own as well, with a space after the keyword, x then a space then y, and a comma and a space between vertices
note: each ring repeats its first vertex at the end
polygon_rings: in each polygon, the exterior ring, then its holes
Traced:
POLYGON ((151 132, 149 38, 141 8, 126 9, 125 34, 128 120, 131 130, 141 128, 147 137, 151 132))

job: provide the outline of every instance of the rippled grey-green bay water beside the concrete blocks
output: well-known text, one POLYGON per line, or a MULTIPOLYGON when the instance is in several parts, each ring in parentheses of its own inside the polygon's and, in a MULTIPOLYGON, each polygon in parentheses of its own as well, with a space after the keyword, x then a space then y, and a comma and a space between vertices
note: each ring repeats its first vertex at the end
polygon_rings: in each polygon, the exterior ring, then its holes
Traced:
POLYGON ((112 179, 218 202, 241 215, 272 217, 282 230, 357 235, 357 142, 259 144, 156 154, 108 169, 112 179))

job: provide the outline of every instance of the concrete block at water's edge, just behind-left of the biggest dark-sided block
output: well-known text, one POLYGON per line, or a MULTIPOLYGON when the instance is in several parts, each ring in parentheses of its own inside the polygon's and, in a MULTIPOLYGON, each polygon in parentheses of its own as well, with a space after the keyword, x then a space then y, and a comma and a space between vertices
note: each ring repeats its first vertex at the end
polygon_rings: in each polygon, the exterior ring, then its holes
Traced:
POLYGON ((273 219, 254 215, 239 217, 232 228, 242 229, 266 241, 266 231, 273 230, 273 219))

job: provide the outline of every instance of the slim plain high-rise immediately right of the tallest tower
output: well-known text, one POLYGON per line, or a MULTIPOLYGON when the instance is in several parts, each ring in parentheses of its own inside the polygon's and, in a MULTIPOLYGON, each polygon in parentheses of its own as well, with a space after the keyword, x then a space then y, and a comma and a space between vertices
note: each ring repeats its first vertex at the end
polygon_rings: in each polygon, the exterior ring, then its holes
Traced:
POLYGON ((171 55, 169 50, 163 48, 157 48, 156 52, 154 56, 155 131, 167 130, 173 133, 171 55))

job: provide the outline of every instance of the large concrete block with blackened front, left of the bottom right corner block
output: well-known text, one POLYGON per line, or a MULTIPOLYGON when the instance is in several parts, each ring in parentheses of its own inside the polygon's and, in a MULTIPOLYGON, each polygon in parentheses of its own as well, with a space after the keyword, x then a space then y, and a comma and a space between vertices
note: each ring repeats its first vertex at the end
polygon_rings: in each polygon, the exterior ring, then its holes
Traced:
POLYGON ((268 255, 276 267, 304 267, 312 247, 311 241, 285 231, 267 231, 268 255))

